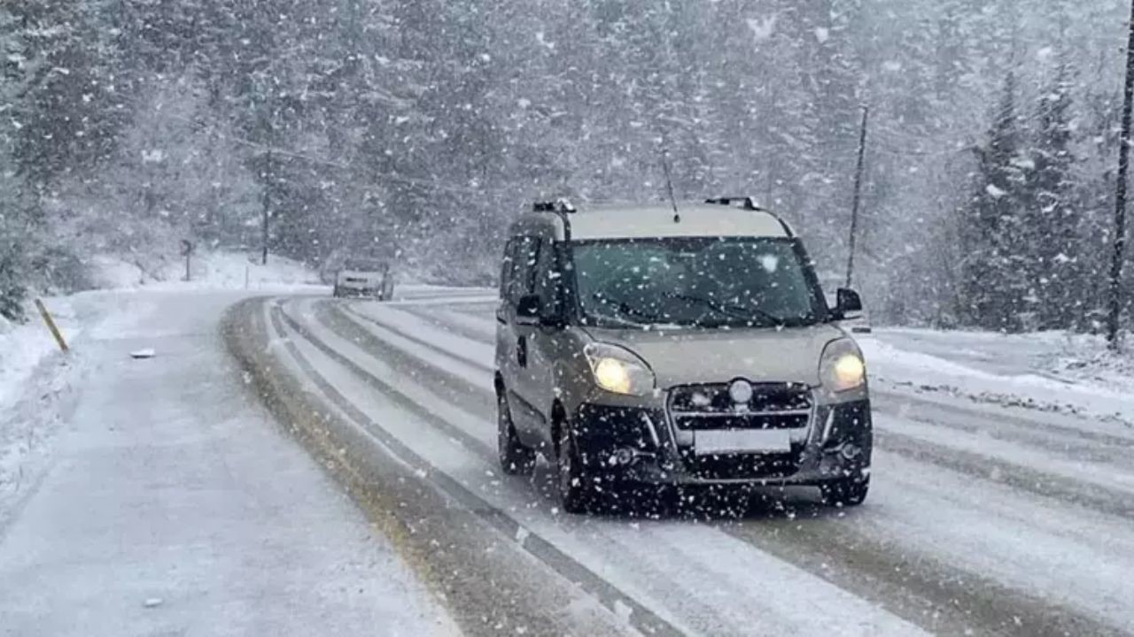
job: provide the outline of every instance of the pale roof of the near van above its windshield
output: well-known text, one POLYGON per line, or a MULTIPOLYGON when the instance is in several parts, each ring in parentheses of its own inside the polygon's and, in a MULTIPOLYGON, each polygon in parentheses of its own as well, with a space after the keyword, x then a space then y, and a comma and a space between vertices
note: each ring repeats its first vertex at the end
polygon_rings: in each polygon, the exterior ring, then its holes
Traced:
MULTIPOLYGON (((578 212, 536 212, 556 227, 556 237, 572 240, 646 239, 677 237, 792 237, 792 229, 775 214, 730 205, 678 204, 679 221, 666 204, 602 204, 578 212)), ((542 224, 542 223, 541 223, 542 224)), ((526 226, 522 220, 519 226, 526 226)))

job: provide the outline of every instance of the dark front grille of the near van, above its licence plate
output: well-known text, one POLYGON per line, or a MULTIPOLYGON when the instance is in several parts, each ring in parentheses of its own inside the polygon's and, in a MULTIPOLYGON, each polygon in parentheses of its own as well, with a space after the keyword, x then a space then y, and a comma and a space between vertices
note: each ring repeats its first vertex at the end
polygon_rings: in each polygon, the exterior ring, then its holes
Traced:
POLYGON ((672 390, 669 414, 682 431, 798 430, 811 418, 812 396, 807 385, 753 384, 752 400, 737 405, 727 384, 689 385, 672 390))

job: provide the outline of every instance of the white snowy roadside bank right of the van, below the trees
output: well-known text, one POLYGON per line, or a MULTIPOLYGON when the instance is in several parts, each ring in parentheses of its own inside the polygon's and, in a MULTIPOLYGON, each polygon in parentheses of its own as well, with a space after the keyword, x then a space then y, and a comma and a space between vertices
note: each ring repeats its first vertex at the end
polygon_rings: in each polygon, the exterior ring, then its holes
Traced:
POLYGON ((875 329, 857 336, 882 389, 1066 411, 1134 426, 1134 354, 1098 337, 875 329))

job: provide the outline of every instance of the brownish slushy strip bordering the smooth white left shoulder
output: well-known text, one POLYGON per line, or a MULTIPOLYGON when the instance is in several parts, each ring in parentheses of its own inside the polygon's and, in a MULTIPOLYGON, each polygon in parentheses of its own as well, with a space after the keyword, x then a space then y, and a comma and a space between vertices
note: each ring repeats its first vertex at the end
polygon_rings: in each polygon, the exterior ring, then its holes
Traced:
MULTIPOLYGON (((466 635, 637 634, 576 584, 549 577, 522 550, 501 543, 475 511, 454 506, 451 495, 386 447, 365 414, 308 374, 313 367, 298 353, 313 346, 287 331, 266 303, 237 306, 225 336, 280 424, 440 588, 466 635)), ((370 388, 364 393, 376 396, 370 388)))

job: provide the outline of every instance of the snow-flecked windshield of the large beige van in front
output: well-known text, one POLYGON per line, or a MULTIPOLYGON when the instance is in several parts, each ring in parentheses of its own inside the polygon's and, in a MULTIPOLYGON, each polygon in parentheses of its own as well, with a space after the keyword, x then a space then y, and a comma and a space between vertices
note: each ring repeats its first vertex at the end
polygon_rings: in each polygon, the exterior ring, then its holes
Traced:
POLYGON ((583 318, 602 326, 802 326, 827 306, 801 249, 782 238, 579 241, 583 318))

